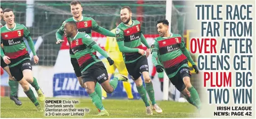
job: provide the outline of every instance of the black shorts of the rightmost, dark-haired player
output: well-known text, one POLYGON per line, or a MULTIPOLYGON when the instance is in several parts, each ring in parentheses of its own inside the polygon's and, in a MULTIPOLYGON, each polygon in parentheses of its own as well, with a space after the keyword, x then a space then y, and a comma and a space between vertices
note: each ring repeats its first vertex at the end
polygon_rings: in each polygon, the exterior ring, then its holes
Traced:
POLYGON ((172 84, 174 84, 174 86, 179 90, 179 91, 183 91, 186 86, 183 82, 183 78, 184 77, 189 77, 191 76, 191 72, 189 71, 188 67, 181 67, 180 70, 177 72, 177 74, 170 78, 170 81, 172 84))

